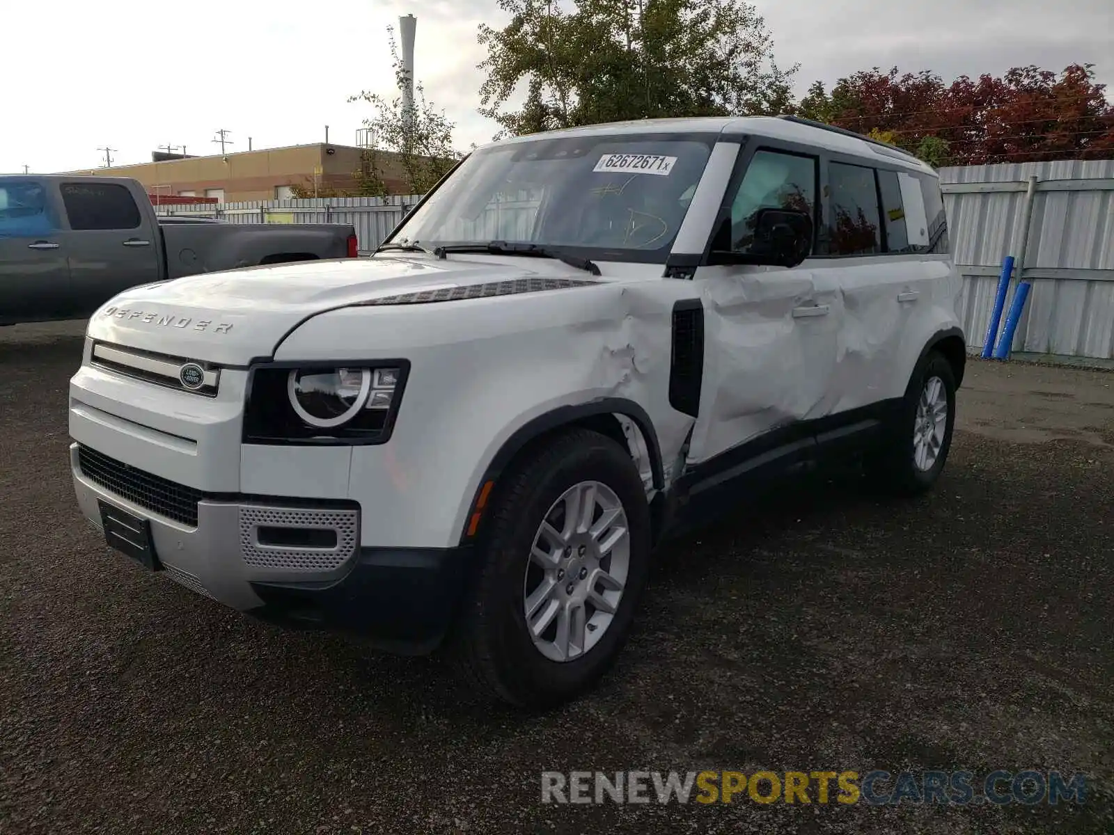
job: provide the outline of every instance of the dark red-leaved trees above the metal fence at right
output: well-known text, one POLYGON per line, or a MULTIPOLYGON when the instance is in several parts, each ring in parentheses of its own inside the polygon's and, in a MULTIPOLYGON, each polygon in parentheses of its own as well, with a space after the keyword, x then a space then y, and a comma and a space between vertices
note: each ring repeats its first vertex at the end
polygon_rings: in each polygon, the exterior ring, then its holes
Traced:
POLYGON ((841 78, 830 92, 815 82, 798 110, 886 135, 936 166, 1114 158, 1114 105, 1092 67, 1074 63, 1058 75, 1017 67, 950 85, 927 70, 876 67, 841 78))

